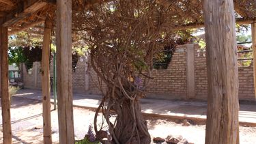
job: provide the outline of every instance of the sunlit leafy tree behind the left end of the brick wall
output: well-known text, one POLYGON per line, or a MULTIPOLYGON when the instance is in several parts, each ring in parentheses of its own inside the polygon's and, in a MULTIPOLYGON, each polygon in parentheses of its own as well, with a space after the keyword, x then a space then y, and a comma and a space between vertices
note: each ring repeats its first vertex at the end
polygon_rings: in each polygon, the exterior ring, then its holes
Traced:
MULTIPOLYGON (((72 44, 72 70, 75 72, 79 57, 87 52, 87 47, 77 37, 73 36, 72 44)), ((25 63, 27 70, 33 67, 33 62, 42 60, 42 35, 35 35, 26 31, 21 31, 9 38, 9 64, 16 64, 20 69, 20 64, 25 63)), ((54 43, 54 40, 53 40, 54 43)), ((51 44, 52 53, 56 53, 56 46, 51 44)), ((49 57, 51 59, 51 57, 49 57)))

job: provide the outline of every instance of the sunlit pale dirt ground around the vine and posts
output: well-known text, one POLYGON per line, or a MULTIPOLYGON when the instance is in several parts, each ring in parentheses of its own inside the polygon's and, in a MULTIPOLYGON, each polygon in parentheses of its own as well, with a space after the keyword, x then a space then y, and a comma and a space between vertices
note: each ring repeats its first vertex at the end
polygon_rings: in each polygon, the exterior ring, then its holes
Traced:
MULTIPOLYGON (((53 106, 52 106, 53 108, 53 106)), ((42 104, 37 100, 25 98, 12 98, 12 132, 14 143, 42 143, 42 104)), ((53 142, 58 143, 57 111, 52 111, 53 142)), ((89 124, 94 120, 94 111, 74 108, 74 131, 76 139, 83 139, 89 124)), ((1 120, 0 120, 1 121, 1 120)), ((190 143, 203 144, 205 139, 205 125, 182 126, 166 119, 147 117, 147 124, 152 138, 182 136, 190 143)), ((1 129, 2 132, 2 129, 1 129)), ((2 142, 0 134, 0 143, 2 142)), ((256 128, 240 127, 240 143, 255 144, 256 128)))

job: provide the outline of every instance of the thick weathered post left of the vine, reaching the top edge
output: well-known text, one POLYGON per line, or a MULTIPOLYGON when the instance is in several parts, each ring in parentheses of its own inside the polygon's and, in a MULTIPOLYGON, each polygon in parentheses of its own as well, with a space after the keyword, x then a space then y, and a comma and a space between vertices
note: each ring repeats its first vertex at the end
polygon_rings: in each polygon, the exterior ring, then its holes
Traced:
POLYGON ((57 0, 57 105, 61 144, 74 143, 71 6, 71 0, 57 0))

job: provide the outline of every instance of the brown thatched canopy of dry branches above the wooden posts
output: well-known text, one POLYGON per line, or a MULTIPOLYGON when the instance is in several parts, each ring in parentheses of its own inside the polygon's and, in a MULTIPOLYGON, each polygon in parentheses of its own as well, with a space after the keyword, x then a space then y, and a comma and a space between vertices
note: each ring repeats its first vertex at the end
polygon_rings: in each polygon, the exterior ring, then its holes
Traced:
MULTIPOLYGON (((74 12, 90 10, 99 0, 72 0, 74 12)), ((203 10, 201 0, 156 0, 170 10, 174 30, 203 27, 203 10)), ((55 14, 55 0, 0 0, 1 25, 10 28, 10 34, 41 24, 48 14, 55 14)), ((234 0, 236 22, 250 24, 256 19, 254 0, 234 0)), ((73 18, 74 18, 73 14, 73 18)), ((42 27, 35 27, 42 29, 42 27)))

